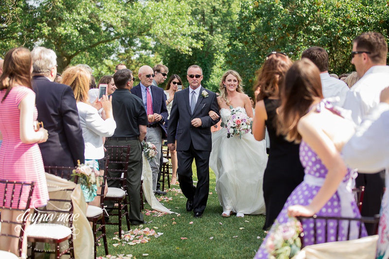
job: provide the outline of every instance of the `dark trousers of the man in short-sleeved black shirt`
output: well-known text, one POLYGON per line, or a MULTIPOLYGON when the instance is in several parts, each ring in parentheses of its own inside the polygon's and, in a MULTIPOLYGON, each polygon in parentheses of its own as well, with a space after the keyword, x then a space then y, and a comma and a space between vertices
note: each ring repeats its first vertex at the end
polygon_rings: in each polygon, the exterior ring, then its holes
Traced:
MULTIPOLYGON (((127 195, 130 202, 129 219, 131 224, 142 224, 143 214, 141 213, 141 176, 143 167, 143 158, 141 142, 139 140, 106 140, 106 149, 109 154, 109 146, 127 146, 130 147, 130 155, 128 158, 127 168, 127 195)), ((122 161, 125 161, 127 152, 123 153, 122 161)), ((111 172, 109 169, 119 169, 123 167, 122 164, 111 164, 108 166, 108 177, 120 177, 117 175, 118 172, 111 172)), ((120 188, 120 181, 118 180, 107 180, 108 187, 120 188)), ((106 201, 105 204, 108 207, 113 207, 113 201, 106 201)), ((109 212, 109 210, 108 210, 109 212)))

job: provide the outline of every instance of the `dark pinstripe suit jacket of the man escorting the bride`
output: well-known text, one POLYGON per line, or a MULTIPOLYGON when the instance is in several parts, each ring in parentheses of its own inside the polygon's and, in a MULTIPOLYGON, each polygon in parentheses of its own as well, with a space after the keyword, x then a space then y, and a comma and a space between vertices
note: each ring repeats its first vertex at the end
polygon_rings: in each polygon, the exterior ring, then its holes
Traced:
POLYGON ((211 126, 220 121, 216 94, 201 86, 200 96, 197 99, 193 115, 191 115, 189 88, 177 91, 174 94, 167 131, 167 143, 175 142, 177 132, 177 151, 187 151, 191 142, 196 150, 212 151, 211 126), (207 91, 208 97, 201 96, 204 90, 207 91), (211 119, 209 116, 211 110, 219 115, 219 119, 215 121, 211 119), (201 127, 192 126, 191 121, 195 118, 201 119, 201 127))

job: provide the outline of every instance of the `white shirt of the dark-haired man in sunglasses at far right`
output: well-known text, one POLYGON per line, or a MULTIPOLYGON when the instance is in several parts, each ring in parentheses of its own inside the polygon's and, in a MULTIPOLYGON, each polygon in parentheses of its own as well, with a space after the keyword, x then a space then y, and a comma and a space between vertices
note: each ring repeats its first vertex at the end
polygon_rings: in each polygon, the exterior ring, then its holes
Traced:
POLYGON ((381 91, 387 86, 389 86, 389 67, 372 66, 351 87, 343 108, 352 111, 351 115, 357 125, 361 123, 363 116, 379 104, 381 91))

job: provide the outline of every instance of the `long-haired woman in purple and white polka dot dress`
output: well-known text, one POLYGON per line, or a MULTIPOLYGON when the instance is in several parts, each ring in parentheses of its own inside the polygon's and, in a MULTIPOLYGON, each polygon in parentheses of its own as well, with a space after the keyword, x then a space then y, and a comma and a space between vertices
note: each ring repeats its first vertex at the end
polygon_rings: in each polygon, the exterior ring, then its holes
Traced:
MULTIPOLYGON (((287 140, 301 142, 300 160, 305 176, 290 194, 276 222, 283 224, 290 216, 314 214, 360 217, 351 192, 353 172, 346 167, 337 150, 354 134, 354 123, 345 120, 331 104, 322 100, 319 70, 308 59, 295 62, 287 71, 284 82, 279 129, 287 140)), ((319 221, 316 233, 313 221, 304 221, 302 226, 305 245, 313 244, 314 234, 317 243, 346 239, 347 231, 341 224, 336 236, 336 224, 329 222, 327 240, 324 226, 319 221)), ((366 236, 366 231, 363 232, 362 236, 366 236)), ((268 258, 265 243, 266 239, 255 255, 256 259, 268 258)))

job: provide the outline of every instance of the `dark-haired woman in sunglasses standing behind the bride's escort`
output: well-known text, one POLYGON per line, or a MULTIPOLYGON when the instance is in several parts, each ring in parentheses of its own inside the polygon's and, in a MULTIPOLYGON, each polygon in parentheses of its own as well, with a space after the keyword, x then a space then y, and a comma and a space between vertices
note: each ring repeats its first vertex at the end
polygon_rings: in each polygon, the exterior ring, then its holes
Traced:
MULTIPOLYGON (((169 81, 166 84, 165 87, 165 95, 166 95, 166 108, 168 112, 167 120, 165 121, 165 129, 167 131, 169 118, 170 118, 170 112, 172 110, 173 100, 174 100, 174 94, 179 91, 178 86, 182 87, 182 80, 179 77, 179 75, 173 74, 169 81)), ((175 142, 177 145, 177 140, 175 142)), ((170 180, 170 184, 176 184, 177 183, 177 152, 176 150, 173 150, 170 152, 170 155, 172 157, 172 180, 170 180)), ((158 186, 157 186, 158 189, 158 186)))

